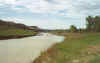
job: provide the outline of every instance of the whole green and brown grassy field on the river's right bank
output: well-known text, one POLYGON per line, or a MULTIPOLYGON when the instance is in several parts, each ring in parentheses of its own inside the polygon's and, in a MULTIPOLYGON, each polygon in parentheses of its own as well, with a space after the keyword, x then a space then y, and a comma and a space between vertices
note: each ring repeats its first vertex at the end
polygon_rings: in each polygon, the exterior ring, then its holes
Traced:
POLYGON ((63 34, 62 43, 41 53, 33 63, 100 63, 100 33, 63 34))

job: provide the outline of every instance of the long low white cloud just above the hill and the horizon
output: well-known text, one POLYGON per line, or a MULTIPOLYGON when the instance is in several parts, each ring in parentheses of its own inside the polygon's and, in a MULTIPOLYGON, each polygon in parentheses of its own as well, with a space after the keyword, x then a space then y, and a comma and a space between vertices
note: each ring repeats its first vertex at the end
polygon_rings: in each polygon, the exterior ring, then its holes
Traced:
POLYGON ((69 25, 71 25, 71 23, 67 24, 65 22, 62 22, 60 20, 52 20, 52 19, 42 19, 42 20, 29 20, 27 21, 26 19, 24 19, 23 17, 7 17, 4 18, 3 20, 5 21, 10 21, 10 22, 16 22, 16 23, 23 23, 26 25, 30 25, 30 26, 38 26, 40 28, 44 28, 44 29, 66 29, 68 28, 69 25), (34 23, 33 23, 34 22, 34 23))

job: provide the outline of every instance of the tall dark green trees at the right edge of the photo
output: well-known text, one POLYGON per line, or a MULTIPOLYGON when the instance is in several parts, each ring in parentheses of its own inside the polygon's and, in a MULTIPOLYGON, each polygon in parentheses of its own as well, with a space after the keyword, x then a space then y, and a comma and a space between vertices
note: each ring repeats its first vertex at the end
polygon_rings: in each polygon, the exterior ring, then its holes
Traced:
POLYGON ((88 16, 86 21, 88 31, 100 32, 100 16, 88 16))

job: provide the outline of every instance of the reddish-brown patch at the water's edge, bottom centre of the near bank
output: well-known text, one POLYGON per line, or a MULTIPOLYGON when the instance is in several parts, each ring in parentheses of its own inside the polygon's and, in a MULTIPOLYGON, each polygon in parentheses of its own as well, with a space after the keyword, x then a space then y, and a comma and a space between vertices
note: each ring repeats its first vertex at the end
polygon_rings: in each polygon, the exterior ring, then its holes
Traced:
POLYGON ((46 63, 46 61, 50 61, 55 56, 57 56, 57 51, 55 50, 54 46, 52 46, 52 48, 49 48, 47 51, 42 52, 41 55, 36 58, 35 61, 33 61, 33 63, 46 63))

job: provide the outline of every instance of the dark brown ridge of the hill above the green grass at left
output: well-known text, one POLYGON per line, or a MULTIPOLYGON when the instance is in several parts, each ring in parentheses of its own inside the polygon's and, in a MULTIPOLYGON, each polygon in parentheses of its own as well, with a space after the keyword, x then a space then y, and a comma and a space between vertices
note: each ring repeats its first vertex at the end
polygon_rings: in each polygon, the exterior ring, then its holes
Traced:
POLYGON ((37 26, 27 26, 25 24, 22 23, 15 23, 15 22, 9 22, 9 21, 4 21, 4 20, 0 20, 0 30, 4 30, 4 29, 24 29, 24 30, 35 30, 38 29, 37 26))

